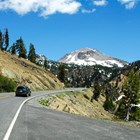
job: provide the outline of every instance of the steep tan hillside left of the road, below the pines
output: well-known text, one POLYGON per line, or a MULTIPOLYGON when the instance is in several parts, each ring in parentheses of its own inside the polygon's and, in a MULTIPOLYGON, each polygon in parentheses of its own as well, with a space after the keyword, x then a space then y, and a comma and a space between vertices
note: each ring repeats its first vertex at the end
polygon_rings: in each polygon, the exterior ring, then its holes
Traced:
POLYGON ((32 90, 60 89, 63 84, 50 72, 37 65, 0 51, 0 74, 27 85, 32 90))

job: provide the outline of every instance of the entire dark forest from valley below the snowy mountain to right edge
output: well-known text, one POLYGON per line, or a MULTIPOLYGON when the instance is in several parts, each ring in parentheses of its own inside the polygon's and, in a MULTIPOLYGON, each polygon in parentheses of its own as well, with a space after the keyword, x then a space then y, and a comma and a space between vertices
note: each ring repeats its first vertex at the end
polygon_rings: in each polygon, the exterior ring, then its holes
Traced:
POLYGON ((50 71, 65 86, 91 87, 91 102, 98 101, 100 95, 103 95, 106 111, 127 121, 140 121, 140 61, 122 69, 55 63, 50 66, 50 71))

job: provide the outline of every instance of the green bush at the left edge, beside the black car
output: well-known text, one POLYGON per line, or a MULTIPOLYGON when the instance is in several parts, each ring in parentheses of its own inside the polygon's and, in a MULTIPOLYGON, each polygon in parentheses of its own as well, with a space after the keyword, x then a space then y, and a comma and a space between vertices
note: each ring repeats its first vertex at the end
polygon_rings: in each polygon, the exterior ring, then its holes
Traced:
POLYGON ((0 92, 12 92, 15 88, 16 83, 12 79, 0 75, 0 92))

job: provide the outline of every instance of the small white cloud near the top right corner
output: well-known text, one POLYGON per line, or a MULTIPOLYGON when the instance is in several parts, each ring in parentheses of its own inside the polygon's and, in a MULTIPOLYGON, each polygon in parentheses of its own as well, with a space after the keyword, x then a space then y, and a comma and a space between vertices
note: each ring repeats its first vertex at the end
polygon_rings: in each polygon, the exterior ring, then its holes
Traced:
POLYGON ((125 5, 126 9, 132 9, 136 6, 138 0, 118 0, 121 4, 125 5))

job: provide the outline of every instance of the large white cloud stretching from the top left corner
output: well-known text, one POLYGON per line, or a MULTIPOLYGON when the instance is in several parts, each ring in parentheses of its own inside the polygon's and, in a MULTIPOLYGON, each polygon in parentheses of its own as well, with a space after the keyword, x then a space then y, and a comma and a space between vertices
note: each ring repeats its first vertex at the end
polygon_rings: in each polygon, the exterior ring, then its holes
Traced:
POLYGON ((1 10, 13 10, 20 15, 28 12, 40 12, 41 16, 55 13, 74 14, 78 12, 81 3, 76 0, 0 0, 1 10))

